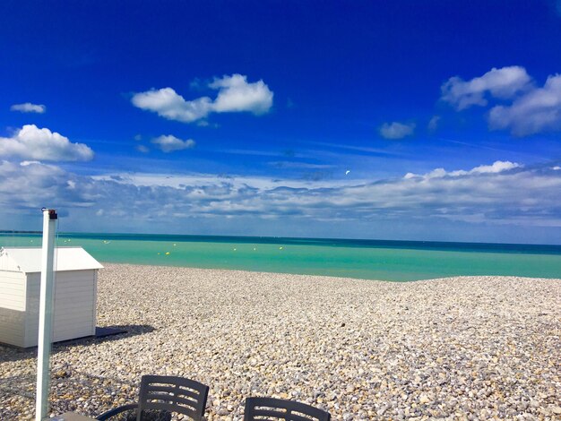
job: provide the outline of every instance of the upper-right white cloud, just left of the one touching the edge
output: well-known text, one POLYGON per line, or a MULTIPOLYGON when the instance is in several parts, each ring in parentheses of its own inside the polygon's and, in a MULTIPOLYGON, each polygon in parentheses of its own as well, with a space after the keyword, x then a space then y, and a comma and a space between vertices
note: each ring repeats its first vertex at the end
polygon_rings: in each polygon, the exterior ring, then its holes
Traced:
POLYGON ((483 76, 464 81, 458 76, 450 78, 441 87, 442 96, 458 111, 471 106, 486 106, 488 93, 497 99, 512 99, 524 90, 531 89, 531 77, 526 69, 513 65, 491 69, 483 76))

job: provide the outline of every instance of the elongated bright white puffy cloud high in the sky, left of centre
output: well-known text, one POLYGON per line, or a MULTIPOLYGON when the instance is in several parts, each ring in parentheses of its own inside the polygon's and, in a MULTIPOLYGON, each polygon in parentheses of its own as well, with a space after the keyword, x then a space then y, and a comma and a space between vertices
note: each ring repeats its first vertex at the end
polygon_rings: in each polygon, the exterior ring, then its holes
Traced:
POLYGON ((183 123, 201 120, 211 113, 246 111, 258 116, 272 107, 273 92, 262 80, 247 82, 247 76, 235 73, 215 78, 208 87, 218 90, 216 99, 186 100, 172 88, 162 88, 136 93, 131 100, 135 107, 183 123))

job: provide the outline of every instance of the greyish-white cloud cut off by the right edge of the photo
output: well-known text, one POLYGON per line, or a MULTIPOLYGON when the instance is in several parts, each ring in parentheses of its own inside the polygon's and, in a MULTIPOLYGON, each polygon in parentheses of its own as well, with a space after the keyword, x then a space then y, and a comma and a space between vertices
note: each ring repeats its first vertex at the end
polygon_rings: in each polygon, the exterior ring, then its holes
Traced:
POLYGON ((561 130, 561 74, 549 76, 543 88, 527 92, 510 106, 491 108, 489 127, 516 136, 561 130))

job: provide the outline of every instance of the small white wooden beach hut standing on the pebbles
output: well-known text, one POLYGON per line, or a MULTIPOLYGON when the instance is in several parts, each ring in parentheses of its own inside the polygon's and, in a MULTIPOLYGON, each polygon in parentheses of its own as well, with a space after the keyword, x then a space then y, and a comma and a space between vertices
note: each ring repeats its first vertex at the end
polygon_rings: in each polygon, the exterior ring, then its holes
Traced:
MULTIPOLYGON (((82 247, 56 248, 53 342, 95 334, 101 268, 82 247)), ((0 248, 0 342, 37 346, 40 272, 40 247, 0 248)))

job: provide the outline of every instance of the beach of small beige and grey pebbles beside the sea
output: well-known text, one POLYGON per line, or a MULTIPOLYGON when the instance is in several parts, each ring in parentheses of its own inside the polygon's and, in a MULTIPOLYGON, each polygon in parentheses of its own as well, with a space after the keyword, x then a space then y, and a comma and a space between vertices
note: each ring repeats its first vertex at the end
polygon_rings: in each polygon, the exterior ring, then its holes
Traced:
MULTIPOLYGON (((98 326, 56 344, 52 415, 133 402, 142 374, 210 386, 207 420, 249 396, 336 420, 561 419, 561 279, 415 282, 106 264, 98 326)), ((0 345, 0 419, 32 419, 37 349, 0 345)))

